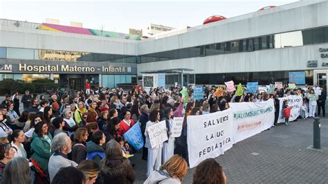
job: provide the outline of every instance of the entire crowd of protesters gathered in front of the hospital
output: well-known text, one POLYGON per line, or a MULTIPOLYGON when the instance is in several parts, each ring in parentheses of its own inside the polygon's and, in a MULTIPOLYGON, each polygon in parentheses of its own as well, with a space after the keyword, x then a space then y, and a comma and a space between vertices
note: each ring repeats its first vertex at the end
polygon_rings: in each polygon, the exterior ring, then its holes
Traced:
MULTIPOLYGON (((269 93, 217 93, 217 86, 203 86, 203 99, 194 100, 193 89, 184 96, 178 86, 136 91, 92 89, 74 96, 55 91, 45 95, 7 95, 0 104, 0 178, 2 183, 134 183, 134 158, 142 151, 147 160, 145 183, 181 183, 188 172, 187 117, 215 113, 230 102, 262 102, 273 98, 275 124, 280 97, 301 95, 301 117, 325 116, 325 89, 318 86, 275 89, 269 93), (309 95, 318 94, 317 98, 309 95), (19 111, 23 104, 24 111, 19 111), (317 107, 318 104, 318 107, 317 107), (172 120, 184 117, 179 138, 172 137, 172 120), (147 127, 165 120, 168 140, 151 147, 147 127), (124 134, 140 122, 145 146, 135 150, 124 134), (19 176, 19 177, 17 177, 19 176)), ((286 125, 291 111, 283 106, 286 125), (285 113, 286 111, 286 113, 285 113), (289 111, 289 113, 288 113, 289 111)), ((193 183, 226 183, 222 167, 204 160, 194 172, 193 183), (210 175, 209 175, 210 174, 210 175), (210 177, 209 177, 210 176, 210 177)))

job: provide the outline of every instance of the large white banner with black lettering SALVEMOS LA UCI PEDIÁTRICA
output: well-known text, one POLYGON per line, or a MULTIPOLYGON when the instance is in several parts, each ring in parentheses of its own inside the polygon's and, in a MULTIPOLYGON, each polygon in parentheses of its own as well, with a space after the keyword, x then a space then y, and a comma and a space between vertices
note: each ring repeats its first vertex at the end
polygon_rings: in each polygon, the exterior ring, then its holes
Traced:
POLYGON ((188 116, 188 155, 190 167, 206 158, 215 158, 233 147, 233 111, 188 116))

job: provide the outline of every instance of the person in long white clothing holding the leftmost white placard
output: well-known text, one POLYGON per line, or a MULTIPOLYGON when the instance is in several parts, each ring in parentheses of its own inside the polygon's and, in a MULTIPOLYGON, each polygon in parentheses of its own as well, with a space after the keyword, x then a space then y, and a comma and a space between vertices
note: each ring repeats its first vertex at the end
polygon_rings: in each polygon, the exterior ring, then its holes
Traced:
POLYGON ((158 123, 158 121, 161 119, 161 115, 159 111, 151 111, 149 113, 149 121, 146 125, 146 131, 145 131, 145 147, 148 148, 148 156, 147 156, 147 177, 156 169, 159 169, 161 166, 161 158, 162 158, 162 147, 163 144, 160 144, 156 147, 152 148, 152 145, 150 144, 149 135, 147 128, 155 125, 158 123))

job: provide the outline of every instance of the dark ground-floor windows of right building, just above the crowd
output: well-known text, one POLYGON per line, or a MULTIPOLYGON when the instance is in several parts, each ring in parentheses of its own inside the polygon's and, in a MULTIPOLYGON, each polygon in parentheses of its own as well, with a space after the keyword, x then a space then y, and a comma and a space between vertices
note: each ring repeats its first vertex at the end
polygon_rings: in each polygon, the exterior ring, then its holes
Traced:
MULTIPOLYGON (((224 84, 233 80, 235 84, 259 82, 259 85, 274 84, 275 82, 289 83, 289 71, 248 72, 248 73, 212 73, 196 74, 196 84, 224 84)), ((305 83, 313 85, 313 71, 305 71, 305 83)))

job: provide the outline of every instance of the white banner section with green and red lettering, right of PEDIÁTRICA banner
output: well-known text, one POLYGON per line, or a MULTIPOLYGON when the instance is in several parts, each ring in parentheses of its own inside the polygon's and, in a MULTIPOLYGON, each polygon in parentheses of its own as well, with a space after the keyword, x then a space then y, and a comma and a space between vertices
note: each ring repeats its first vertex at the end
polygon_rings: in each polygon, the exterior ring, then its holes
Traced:
POLYGON ((272 127, 275 120, 273 100, 229 103, 233 109, 233 137, 237 143, 272 127))

